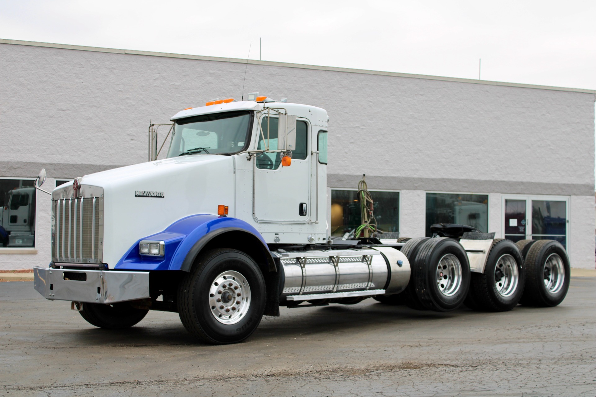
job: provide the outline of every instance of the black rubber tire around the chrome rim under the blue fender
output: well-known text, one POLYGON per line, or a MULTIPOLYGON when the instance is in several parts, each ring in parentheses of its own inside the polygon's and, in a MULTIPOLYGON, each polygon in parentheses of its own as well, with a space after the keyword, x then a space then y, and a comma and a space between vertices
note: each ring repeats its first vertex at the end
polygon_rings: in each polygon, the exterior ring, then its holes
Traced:
MULTIPOLYGON (((184 327, 197 339, 213 345, 238 343, 252 335, 259 326, 265 311, 265 299, 265 279, 256 262, 236 249, 218 248, 200 255, 190 273, 180 283, 178 314, 184 327), (232 324, 224 324, 218 320, 213 314, 213 306, 210 306, 210 289, 218 276, 226 272, 240 273, 250 288, 250 295, 247 296, 246 290, 242 296, 249 298, 247 311, 232 324)), ((242 302, 246 304, 246 301, 242 302)), ((224 320, 225 318, 222 321, 224 320)))

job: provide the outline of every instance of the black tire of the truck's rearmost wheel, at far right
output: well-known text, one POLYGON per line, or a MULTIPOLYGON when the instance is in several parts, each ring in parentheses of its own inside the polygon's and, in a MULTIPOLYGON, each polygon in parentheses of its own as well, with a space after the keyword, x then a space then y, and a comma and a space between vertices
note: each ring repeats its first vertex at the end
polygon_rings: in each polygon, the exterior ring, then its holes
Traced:
MULTIPOLYGON (((555 266, 556 268, 557 266, 555 266)), ((538 240, 527 252, 526 257, 526 286, 520 304, 526 306, 536 307, 552 307, 560 304, 569 290, 570 281, 570 265, 567 252, 561 243, 555 240, 538 240), (558 258, 557 258, 558 256, 558 258), (547 274, 548 270, 545 268, 547 260, 551 264, 552 261, 560 260, 558 267, 563 270, 563 274, 554 274, 552 270, 547 274), (560 285, 555 285, 554 289, 548 290, 545 282, 552 282, 553 277, 563 277, 560 280, 560 285), (548 277, 548 279, 547 279, 548 277)))

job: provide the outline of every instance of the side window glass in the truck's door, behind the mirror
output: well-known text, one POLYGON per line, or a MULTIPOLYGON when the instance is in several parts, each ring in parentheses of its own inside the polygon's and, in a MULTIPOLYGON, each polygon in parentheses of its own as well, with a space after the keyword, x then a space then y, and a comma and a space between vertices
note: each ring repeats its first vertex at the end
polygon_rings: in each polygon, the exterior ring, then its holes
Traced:
MULTIPOLYGON (((269 142, 269 150, 278 150, 277 147, 277 131, 278 118, 277 117, 263 117, 261 119, 261 127, 263 135, 259 131, 259 143, 257 150, 265 150, 266 143, 269 142), (268 133, 269 132, 269 133, 268 133), (263 136, 265 140, 263 140, 263 136)), ((296 149, 292 152, 292 160, 306 160, 308 149, 308 126, 306 121, 296 121, 296 149)), ((257 158, 257 168, 265 170, 277 170, 281 164, 281 154, 278 153, 263 153, 257 158)))

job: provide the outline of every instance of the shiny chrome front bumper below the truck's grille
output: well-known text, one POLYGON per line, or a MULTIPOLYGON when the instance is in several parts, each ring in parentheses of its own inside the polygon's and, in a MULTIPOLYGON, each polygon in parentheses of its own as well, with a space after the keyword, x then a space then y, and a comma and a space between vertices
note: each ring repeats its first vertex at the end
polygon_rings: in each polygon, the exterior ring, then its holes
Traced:
POLYGON ((33 268, 33 287, 53 301, 112 304, 149 298, 148 271, 33 268))

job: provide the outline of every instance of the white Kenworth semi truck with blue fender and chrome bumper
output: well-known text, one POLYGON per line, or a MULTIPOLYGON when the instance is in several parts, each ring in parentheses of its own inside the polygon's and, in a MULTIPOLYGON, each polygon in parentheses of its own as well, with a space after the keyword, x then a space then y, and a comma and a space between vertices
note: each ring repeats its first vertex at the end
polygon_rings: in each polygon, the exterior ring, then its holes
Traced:
MULTIPOLYGON (((214 344, 241 342, 280 306, 373 297, 420 310, 507 311, 565 297, 560 243, 513 243, 451 224, 433 226, 433 238, 388 240, 375 230, 364 183, 362 226, 330 239, 327 112, 249 99, 178 112, 164 160, 56 187, 52 258, 35 268, 35 289, 72 301, 104 329, 134 326, 149 310, 178 312, 188 332, 214 344)), ((42 170, 40 190, 44 179, 42 170)))

